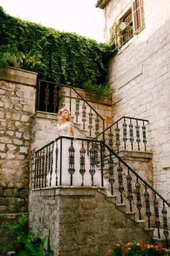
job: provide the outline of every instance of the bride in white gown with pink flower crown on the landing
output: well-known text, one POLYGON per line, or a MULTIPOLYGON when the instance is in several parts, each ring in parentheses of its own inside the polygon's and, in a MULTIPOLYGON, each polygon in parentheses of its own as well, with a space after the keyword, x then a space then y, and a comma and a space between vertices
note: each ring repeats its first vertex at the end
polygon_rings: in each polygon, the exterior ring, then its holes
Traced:
MULTIPOLYGON (((86 153, 85 140, 80 141, 71 121, 68 108, 58 111, 58 139, 53 148, 53 172, 47 174, 50 187, 56 185, 101 187, 101 172, 94 157, 86 153), (60 138, 66 136, 67 138, 60 138)), ((93 151, 93 150, 92 150, 93 151)), ((104 179, 104 186, 108 185, 104 179)))

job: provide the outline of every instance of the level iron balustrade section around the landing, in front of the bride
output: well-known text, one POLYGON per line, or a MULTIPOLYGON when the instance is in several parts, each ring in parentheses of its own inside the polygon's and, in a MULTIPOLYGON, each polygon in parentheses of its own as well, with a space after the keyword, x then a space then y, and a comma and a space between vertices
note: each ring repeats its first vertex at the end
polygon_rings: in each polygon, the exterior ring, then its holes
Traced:
POLYGON ((63 167, 66 169, 68 166, 69 173, 69 182, 64 185, 72 186, 74 185, 74 173, 75 171, 80 173, 80 186, 84 186, 84 175, 85 173, 90 173, 90 183, 88 186, 96 186, 95 177, 96 177, 96 166, 100 165, 101 171, 101 187, 104 186, 103 181, 103 167, 102 162, 98 159, 101 159, 101 143, 98 141, 92 141, 86 138, 77 138, 76 142, 78 143, 78 155, 79 159, 75 157, 75 151, 77 151, 77 145, 74 146, 74 138, 60 136, 56 140, 48 143, 46 146, 40 148, 35 152, 35 161, 34 161, 34 189, 36 188, 45 188, 53 186, 62 186, 63 185, 63 167), (66 152, 66 143, 63 144, 63 140, 68 140, 69 147, 66 152), (60 152, 60 153, 58 153, 60 152), (88 156, 85 157, 85 155, 88 156), (64 163, 63 163, 64 161, 64 163), (78 161, 79 170, 75 170, 75 161, 78 161), (87 170, 87 161, 89 162, 89 168, 87 170), (53 174, 55 173, 55 184, 52 185, 53 174))

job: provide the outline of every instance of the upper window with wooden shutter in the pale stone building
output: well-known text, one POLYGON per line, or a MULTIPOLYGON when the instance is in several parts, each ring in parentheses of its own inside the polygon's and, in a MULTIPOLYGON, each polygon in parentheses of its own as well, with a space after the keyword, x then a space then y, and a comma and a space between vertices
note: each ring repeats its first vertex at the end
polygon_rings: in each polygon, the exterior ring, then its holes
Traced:
POLYGON ((142 0, 133 0, 131 7, 115 23, 111 29, 111 41, 115 45, 125 45, 134 34, 138 34, 144 28, 142 15, 142 0))

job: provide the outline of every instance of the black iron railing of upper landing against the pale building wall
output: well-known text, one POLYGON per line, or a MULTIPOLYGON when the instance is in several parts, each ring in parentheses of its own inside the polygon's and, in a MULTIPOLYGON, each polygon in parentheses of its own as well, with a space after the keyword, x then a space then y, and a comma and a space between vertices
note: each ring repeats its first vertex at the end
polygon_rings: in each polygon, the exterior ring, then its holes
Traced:
POLYGON ((147 151, 148 122, 141 118, 123 116, 99 133, 94 140, 104 140, 117 154, 123 149, 147 151))

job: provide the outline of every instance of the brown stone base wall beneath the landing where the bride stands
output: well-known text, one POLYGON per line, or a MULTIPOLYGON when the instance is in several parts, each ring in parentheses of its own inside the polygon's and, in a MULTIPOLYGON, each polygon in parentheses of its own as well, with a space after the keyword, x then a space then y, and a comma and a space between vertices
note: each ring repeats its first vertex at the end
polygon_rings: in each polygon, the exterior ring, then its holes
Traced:
POLYGON ((151 242, 144 223, 126 215, 102 188, 34 189, 29 217, 38 236, 50 234, 55 256, 104 256, 117 242, 151 242))

